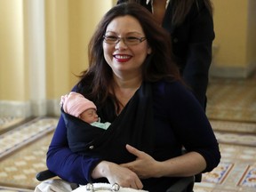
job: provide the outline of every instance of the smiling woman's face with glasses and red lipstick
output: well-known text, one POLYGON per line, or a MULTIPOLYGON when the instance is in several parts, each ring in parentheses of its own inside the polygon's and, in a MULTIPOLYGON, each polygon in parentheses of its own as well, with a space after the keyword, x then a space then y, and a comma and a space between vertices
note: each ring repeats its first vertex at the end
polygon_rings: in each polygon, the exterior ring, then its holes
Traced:
POLYGON ((105 60, 116 76, 133 76, 141 75, 142 63, 151 49, 140 22, 126 15, 116 17, 108 24, 103 51, 105 60))

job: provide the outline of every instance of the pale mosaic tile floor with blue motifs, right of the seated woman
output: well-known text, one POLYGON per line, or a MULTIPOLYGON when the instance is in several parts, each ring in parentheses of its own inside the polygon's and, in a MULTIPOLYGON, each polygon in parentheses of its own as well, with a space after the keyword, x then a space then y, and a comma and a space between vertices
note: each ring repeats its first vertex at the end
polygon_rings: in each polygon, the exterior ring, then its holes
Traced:
MULTIPOLYGON (((239 140, 239 135, 236 135, 239 140)), ((220 140, 220 137, 218 137, 220 140)), ((234 142, 234 138, 230 140, 234 142)), ((226 139, 228 140, 228 139, 226 139)), ((256 136, 254 136, 256 140, 256 136)), ((201 183, 196 183, 195 192, 256 191, 256 150, 253 147, 222 144, 221 162, 212 172, 204 173, 201 183)))

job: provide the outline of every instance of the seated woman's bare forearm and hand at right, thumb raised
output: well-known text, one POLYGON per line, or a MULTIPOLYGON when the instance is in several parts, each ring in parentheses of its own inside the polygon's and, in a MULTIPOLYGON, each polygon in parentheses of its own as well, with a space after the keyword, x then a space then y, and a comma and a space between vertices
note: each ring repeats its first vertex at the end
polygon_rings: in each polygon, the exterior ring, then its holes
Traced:
POLYGON ((195 151, 158 162, 152 156, 130 145, 126 145, 126 149, 137 158, 135 161, 120 165, 135 172, 140 179, 188 177, 203 172, 206 168, 204 157, 195 151))

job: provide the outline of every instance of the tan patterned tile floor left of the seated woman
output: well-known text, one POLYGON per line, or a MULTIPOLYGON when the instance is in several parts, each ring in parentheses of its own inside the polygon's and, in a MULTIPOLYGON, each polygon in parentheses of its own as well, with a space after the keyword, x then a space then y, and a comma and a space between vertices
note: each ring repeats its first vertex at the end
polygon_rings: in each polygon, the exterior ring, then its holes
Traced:
POLYGON ((57 121, 36 118, 0 135, 0 192, 35 188, 36 172, 46 169, 45 153, 57 121))

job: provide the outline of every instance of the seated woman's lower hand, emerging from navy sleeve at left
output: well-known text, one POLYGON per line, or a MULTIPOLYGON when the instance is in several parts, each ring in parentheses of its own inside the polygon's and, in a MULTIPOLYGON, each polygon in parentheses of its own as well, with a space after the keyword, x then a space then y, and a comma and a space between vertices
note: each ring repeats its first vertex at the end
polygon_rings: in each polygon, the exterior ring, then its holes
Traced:
POLYGON ((123 188, 141 189, 143 185, 135 172, 132 170, 107 161, 102 161, 92 171, 92 178, 105 177, 110 184, 117 183, 123 188))

